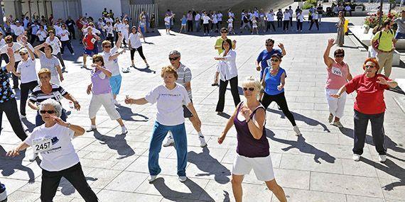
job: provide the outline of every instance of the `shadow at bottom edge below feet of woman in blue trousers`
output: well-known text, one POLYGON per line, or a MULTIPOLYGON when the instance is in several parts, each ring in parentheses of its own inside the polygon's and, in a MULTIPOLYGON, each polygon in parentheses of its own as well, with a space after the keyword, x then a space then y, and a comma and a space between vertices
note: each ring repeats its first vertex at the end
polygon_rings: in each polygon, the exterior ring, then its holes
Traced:
POLYGON ((170 189, 166 185, 165 179, 162 177, 153 181, 153 186, 155 186, 159 193, 161 193, 161 196, 171 201, 198 201, 198 198, 205 198, 205 201, 214 201, 214 199, 211 198, 211 196, 205 192, 201 186, 198 186, 198 184, 191 179, 187 179, 185 182, 183 182, 183 184, 188 187, 191 193, 183 193, 170 189))

